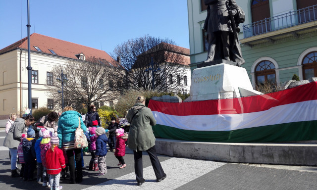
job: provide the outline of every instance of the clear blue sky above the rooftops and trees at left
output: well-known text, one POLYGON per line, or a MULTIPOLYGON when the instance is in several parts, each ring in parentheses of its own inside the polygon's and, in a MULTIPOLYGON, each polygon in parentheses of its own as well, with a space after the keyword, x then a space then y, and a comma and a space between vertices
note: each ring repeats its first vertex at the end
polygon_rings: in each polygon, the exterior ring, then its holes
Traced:
MULTIPOLYGON (((27 37, 27 0, 0 0, 0 49, 27 37)), ((187 0, 30 0, 31 34, 111 53, 149 34, 189 48, 187 0)))

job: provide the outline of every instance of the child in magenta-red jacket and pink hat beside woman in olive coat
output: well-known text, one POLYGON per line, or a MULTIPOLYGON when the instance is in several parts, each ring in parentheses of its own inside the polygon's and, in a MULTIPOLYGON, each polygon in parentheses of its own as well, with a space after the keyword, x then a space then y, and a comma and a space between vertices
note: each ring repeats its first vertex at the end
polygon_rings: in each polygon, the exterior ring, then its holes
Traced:
POLYGON ((122 128, 115 130, 116 142, 115 142, 115 157, 119 160, 118 166, 120 169, 125 168, 127 165, 124 163, 123 156, 125 155, 125 142, 128 140, 128 134, 124 133, 122 128))

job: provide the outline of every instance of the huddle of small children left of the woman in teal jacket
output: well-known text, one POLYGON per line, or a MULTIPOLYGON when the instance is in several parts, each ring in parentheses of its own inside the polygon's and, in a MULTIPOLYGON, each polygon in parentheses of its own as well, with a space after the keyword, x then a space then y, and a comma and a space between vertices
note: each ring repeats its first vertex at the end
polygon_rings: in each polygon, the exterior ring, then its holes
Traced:
POLYGON ((27 134, 22 134, 18 146, 19 162, 21 163, 20 177, 23 181, 43 182, 43 187, 51 190, 61 190, 59 186, 60 172, 66 167, 63 151, 58 148, 59 139, 54 134, 53 128, 43 128, 39 124, 38 139, 35 131, 28 128, 27 134), (37 170, 37 178, 34 178, 34 170, 37 170))

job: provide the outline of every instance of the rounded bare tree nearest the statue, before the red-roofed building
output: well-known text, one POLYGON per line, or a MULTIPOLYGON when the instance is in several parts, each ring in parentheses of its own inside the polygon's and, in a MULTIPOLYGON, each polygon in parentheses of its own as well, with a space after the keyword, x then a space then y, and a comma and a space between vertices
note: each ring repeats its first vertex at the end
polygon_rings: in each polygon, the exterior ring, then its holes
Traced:
POLYGON ((173 92, 179 90, 179 80, 188 67, 184 65, 184 58, 189 55, 183 49, 172 40, 144 36, 118 45, 113 52, 114 56, 120 57, 120 63, 127 72, 126 83, 129 87, 136 90, 155 88, 159 92, 173 92), (152 72, 151 60, 153 71, 157 72, 152 72))

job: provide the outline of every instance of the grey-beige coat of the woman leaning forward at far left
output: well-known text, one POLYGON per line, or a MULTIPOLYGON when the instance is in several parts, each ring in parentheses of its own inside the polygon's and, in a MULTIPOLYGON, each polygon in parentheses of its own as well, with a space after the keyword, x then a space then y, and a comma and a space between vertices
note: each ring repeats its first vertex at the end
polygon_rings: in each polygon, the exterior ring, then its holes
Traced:
POLYGON ((21 141, 21 136, 23 133, 25 133, 25 127, 24 119, 17 118, 5 136, 3 146, 17 149, 21 141))

